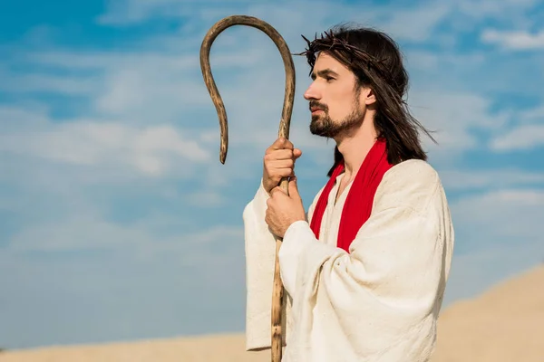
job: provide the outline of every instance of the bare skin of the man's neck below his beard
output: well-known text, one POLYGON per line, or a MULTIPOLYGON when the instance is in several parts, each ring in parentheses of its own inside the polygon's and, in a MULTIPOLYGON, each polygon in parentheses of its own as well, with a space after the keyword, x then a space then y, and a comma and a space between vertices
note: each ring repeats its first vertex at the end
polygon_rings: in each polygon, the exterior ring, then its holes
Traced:
POLYGON ((374 146, 376 138, 377 132, 374 129, 373 119, 365 117, 359 129, 356 129, 350 135, 344 135, 336 139, 338 151, 344 157, 346 179, 355 177, 359 168, 363 165, 364 157, 366 157, 370 148, 374 146))

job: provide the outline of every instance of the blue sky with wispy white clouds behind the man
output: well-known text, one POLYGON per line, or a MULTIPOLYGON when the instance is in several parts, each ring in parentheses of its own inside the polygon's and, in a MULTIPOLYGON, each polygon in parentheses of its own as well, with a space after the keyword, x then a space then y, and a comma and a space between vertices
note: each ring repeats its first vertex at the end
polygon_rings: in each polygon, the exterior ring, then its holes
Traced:
MULTIPOLYGON (((209 27, 266 20, 292 52, 344 22, 400 43, 408 102, 446 188, 446 306, 544 260, 544 6, 455 2, 38 2, 0 6, 3 348, 243 331, 241 214, 277 137, 284 72, 264 33, 222 33, 211 66, 226 165, 199 69, 209 27)), ((291 139, 305 205, 334 144, 313 137, 295 57, 291 139)))

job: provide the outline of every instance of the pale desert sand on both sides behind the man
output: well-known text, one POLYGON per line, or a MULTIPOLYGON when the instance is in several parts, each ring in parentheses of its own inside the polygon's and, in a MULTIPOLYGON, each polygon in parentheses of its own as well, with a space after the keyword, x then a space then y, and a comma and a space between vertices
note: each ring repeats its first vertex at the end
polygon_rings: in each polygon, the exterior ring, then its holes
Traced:
MULTIPOLYGON (((243 334, 0 353, 0 362, 261 362, 243 334)), ((544 266, 443 310, 432 362, 544 362, 544 266)))

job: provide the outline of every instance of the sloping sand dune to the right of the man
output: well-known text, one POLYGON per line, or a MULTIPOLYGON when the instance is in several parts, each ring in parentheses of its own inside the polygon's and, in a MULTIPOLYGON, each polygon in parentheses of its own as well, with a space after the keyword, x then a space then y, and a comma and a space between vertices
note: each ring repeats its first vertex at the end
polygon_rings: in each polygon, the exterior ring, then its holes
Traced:
POLYGON ((544 265, 444 310, 432 362, 544 362, 544 265))

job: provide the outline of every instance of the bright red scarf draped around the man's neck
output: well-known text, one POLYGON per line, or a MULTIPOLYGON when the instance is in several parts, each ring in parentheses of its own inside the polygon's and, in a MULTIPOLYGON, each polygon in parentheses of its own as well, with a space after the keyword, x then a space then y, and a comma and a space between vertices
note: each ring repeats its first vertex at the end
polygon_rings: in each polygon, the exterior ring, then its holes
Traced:
MULTIPOLYGON (((336 176, 340 175, 344 167, 344 161, 336 165, 332 176, 325 185, 323 193, 317 200, 310 224, 317 239, 319 239, 319 229, 321 228, 321 220, 325 213, 328 196, 333 186, 335 186, 336 176)), ((380 185, 385 172, 391 167, 393 165, 387 161, 385 140, 379 138, 374 142, 374 146, 370 149, 366 157, 364 157, 363 165, 359 168, 349 194, 345 199, 342 218, 340 219, 340 228, 338 230, 337 246, 339 248, 349 252, 349 245, 354 241, 361 226, 370 217, 376 189, 380 185)))

